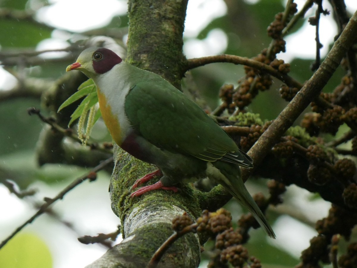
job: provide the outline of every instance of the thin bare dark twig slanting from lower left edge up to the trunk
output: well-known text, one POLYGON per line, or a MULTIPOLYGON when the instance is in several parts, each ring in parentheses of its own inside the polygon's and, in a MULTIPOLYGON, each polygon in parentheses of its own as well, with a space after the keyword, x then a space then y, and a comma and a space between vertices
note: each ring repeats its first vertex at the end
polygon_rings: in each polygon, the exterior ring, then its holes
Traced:
POLYGON ((109 165, 110 163, 113 162, 113 157, 108 158, 107 160, 101 162, 99 165, 94 167, 90 172, 86 173, 84 176, 81 176, 72 183, 70 183, 67 187, 65 187, 61 192, 59 192, 54 198, 44 198, 45 203, 42 204, 40 209, 31 217, 29 218, 24 224, 21 226, 17 227, 14 232, 10 234, 4 241, 1 242, 0 244, 0 249, 5 246, 7 242, 10 241, 12 237, 14 237, 18 232, 20 232, 27 224, 30 224, 32 221, 34 221, 37 217, 39 217, 41 214, 46 212, 47 208, 51 206, 54 202, 56 202, 59 199, 62 199, 66 193, 71 191, 73 188, 75 188, 77 185, 81 184, 84 182, 86 179, 89 179, 90 181, 93 181, 96 179, 96 172, 102 170, 105 166, 109 165))

